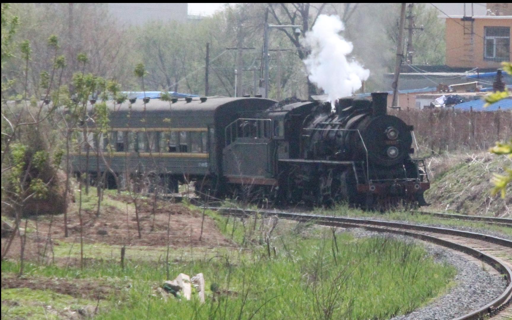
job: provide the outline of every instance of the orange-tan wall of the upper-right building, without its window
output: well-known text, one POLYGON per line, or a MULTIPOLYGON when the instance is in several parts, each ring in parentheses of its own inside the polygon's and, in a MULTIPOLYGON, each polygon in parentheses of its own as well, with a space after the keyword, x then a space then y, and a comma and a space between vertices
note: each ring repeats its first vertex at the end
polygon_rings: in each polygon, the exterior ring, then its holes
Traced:
MULTIPOLYGON (((464 22, 461 17, 446 18, 446 65, 470 69, 500 68, 501 62, 484 59, 484 27, 511 27, 512 32, 512 16, 474 17, 473 46, 470 35, 464 35, 464 25, 466 30, 471 27, 471 23, 464 22)), ((512 42, 509 45, 509 52, 512 52, 512 42)))

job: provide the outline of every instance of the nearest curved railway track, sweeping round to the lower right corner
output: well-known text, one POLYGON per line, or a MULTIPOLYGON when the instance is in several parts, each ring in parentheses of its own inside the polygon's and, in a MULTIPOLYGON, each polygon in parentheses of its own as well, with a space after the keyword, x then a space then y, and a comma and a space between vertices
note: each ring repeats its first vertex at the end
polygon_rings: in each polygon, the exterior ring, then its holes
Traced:
POLYGON ((463 252, 487 263, 500 274, 503 274, 507 281, 507 287, 505 291, 493 301, 487 302, 485 306, 458 317, 456 320, 481 319, 484 317, 490 317, 493 320, 512 318, 512 241, 510 240, 487 236, 482 233, 379 220, 318 216, 269 210, 243 210, 219 207, 207 208, 220 210, 224 214, 236 216, 260 214, 301 222, 315 222, 327 226, 364 228, 370 231, 403 234, 463 252))

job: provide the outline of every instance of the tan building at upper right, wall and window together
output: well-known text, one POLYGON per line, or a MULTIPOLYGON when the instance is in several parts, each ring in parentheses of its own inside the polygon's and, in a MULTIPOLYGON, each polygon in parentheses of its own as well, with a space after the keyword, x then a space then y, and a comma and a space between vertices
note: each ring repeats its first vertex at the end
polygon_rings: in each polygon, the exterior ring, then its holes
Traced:
POLYGON ((447 66, 489 69, 510 61, 512 15, 444 18, 447 66))

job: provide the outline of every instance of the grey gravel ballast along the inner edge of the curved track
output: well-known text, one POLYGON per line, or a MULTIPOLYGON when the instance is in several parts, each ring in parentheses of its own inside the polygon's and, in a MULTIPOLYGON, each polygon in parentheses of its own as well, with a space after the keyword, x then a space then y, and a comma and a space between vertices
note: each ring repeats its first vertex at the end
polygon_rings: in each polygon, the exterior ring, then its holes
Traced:
MULTIPOLYGON (((350 229, 355 237, 370 237, 386 234, 406 241, 419 241, 407 236, 391 233, 373 232, 362 229, 350 229)), ((422 242, 422 241, 421 241, 422 242)), ((453 319, 486 305, 497 298, 506 288, 503 276, 489 273, 492 268, 486 264, 478 265, 468 261, 450 249, 422 242, 437 262, 449 263, 457 268, 454 285, 444 295, 435 298, 428 305, 409 314, 400 315, 392 320, 448 320, 453 319)))

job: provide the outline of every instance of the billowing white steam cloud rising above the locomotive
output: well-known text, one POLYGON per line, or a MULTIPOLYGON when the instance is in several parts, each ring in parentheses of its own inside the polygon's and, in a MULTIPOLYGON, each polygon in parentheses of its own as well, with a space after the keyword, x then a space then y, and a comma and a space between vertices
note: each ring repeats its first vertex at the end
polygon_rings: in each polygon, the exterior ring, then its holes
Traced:
POLYGON ((302 40, 304 46, 311 48, 304 60, 309 80, 324 89, 332 104, 335 99, 352 95, 370 76, 370 71, 357 61, 347 59, 353 46, 339 35, 343 30, 345 26, 338 16, 322 14, 302 40))

